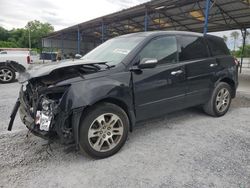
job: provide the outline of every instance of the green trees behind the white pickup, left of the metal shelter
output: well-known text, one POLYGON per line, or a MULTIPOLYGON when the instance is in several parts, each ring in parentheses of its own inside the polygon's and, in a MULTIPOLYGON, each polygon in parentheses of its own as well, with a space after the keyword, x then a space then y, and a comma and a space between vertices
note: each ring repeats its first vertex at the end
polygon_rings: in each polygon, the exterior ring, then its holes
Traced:
POLYGON ((49 23, 42 23, 38 20, 30 21, 25 28, 12 29, 10 31, 0 27, 0 47, 29 47, 29 32, 31 47, 41 49, 42 37, 54 31, 49 23))

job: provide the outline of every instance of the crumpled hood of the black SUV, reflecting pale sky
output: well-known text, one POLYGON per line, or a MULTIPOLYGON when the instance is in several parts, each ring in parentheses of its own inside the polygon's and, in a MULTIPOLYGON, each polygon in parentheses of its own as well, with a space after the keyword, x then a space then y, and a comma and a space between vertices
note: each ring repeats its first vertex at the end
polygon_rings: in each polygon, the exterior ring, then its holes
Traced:
POLYGON ((93 64, 93 63, 97 63, 97 62, 79 59, 79 60, 74 60, 74 61, 69 60, 69 61, 62 61, 59 63, 55 62, 55 63, 50 63, 50 64, 37 65, 37 66, 34 66, 30 70, 20 73, 18 81, 20 83, 23 83, 32 78, 49 75, 55 70, 59 70, 59 69, 67 68, 67 67, 77 67, 77 66, 93 64))

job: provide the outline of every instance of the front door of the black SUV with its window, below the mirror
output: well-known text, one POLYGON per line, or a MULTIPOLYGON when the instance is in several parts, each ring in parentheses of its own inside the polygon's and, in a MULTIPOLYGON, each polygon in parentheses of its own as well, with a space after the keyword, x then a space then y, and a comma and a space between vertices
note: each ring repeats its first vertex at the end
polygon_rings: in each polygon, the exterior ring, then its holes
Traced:
POLYGON ((155 68, 133 72, 134 99, 137 120, 148 119, 181 109, 184 105, 185 68, 177 63, 175 36, 152 39, 137 59, 155 58, 155 68))

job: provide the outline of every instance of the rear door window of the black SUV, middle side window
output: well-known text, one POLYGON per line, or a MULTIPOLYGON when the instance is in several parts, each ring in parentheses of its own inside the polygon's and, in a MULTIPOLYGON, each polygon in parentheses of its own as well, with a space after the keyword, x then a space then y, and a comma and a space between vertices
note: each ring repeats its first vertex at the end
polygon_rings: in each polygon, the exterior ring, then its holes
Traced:
POLYGON ((207 44, 202 37, 180 36, 179 37, 179 60, 195 60, 209 56, 207 44))

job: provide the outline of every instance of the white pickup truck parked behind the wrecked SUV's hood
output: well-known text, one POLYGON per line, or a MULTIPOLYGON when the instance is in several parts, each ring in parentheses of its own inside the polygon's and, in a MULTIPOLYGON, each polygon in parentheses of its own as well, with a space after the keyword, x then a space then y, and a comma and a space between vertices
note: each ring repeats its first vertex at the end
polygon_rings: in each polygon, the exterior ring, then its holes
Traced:
POLYGON ((34 62, 39 62, 39 55, 29 51, 0 52, 0 83, 10 83, 16 79, 16 72, 23 72, 34 62))

